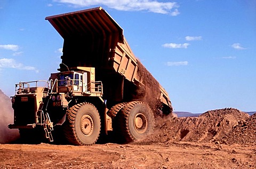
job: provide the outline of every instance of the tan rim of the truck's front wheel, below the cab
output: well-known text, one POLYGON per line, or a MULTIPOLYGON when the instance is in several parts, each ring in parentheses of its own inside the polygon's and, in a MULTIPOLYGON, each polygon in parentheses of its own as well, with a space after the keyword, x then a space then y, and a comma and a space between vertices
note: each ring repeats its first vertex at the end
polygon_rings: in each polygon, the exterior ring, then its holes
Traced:
POLYGON ((89 136, 93 132, 93 119, 90 115, 83 115, 81 118, 81 130, 84 135, 89 136))

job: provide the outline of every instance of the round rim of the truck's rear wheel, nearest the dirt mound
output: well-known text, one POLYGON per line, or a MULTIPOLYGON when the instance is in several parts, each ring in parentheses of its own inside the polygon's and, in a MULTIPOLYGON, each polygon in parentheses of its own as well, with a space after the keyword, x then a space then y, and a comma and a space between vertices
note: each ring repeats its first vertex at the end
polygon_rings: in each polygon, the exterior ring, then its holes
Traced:
POLYGON ((138 113, 133 121, 135 130, 138 133, 145 133, 148 127, 148 121, 145 115, 143 115, 142 113, 138 113))

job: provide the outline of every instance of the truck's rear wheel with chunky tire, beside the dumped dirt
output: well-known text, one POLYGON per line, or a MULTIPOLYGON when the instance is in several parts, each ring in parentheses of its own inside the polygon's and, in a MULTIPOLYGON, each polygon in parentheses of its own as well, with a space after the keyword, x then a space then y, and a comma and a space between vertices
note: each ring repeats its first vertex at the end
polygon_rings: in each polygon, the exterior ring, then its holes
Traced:
POLYGON ((154 115, 149 106, 140 101, 126 103, 118 114, 121 135, 125 142, 146 138, 155 127, 154 115))

